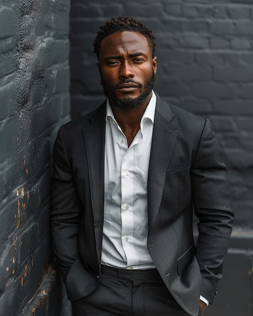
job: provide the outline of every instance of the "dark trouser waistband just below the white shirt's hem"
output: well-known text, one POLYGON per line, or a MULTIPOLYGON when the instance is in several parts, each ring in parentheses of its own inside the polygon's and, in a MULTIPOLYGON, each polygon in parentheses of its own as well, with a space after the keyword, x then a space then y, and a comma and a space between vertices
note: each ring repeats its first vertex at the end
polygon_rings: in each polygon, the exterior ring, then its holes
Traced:
POLYGON ((125 270, 102 265, 101 273, 107 276, 131 281, 161 279, 161 276, 157 269, 125 270))

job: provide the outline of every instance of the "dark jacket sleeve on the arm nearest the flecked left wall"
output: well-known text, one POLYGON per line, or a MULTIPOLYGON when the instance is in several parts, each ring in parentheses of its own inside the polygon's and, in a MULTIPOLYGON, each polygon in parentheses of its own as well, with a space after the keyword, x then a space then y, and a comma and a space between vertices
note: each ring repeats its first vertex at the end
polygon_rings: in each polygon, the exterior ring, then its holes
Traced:
POLYGON ((53 248, 64 282, 78 256, 78 230, 81 204, 75 187, 71 159, 67 155, 64 126, 53 148, 52 207, 50 226, 53 248))

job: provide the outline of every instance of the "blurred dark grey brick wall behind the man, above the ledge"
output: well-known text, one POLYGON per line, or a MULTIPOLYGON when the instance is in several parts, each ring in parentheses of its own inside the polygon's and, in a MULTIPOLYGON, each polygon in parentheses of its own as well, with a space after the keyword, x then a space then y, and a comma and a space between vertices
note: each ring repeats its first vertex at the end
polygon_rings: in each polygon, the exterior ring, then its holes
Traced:
POLYGON ((72 117, 104 100, 92 42, 99 25, 120 14, 156 36, 155 90, 211 119, 229 169, 234 231, 253 228, 253 1, 72 0, 72 117))

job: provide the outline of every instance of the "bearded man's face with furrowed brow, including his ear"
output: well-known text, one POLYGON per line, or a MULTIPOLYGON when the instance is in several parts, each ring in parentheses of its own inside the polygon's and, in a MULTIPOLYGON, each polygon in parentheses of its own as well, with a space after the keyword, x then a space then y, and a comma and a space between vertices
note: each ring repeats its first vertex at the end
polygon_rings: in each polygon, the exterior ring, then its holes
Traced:
POLYGON ((145 36, 138 32, 117 32, 103 39, 97 66, 112 106, 134 109, 150 99, 156 60, 145 36))

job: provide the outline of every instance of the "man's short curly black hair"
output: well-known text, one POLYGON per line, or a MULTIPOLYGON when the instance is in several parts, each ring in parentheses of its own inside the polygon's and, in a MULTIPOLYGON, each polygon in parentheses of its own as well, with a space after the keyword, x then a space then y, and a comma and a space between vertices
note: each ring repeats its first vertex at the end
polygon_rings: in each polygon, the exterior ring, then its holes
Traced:
POLYGON ((111 18, 111 20, 107 21, 105 25, 100 26, 100 30, 97 32, 96 38, 93 42, 93 52, 95 52, 98 60, 103 39, 113 33, 124 31, 138 32, 144 35, 149 47, 152 50, 152 56, 154 58, 156 43, 152 30, 147 28, 140 21, 120 15, 117 19, 111 18))

